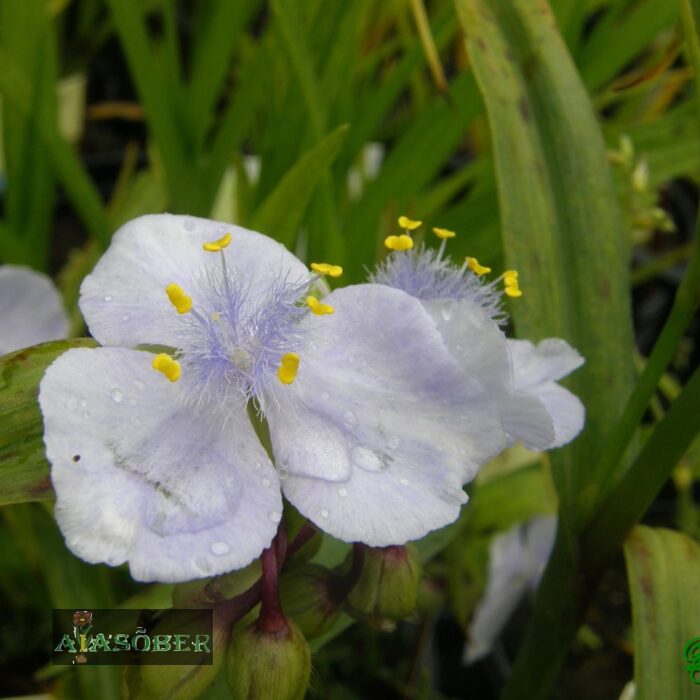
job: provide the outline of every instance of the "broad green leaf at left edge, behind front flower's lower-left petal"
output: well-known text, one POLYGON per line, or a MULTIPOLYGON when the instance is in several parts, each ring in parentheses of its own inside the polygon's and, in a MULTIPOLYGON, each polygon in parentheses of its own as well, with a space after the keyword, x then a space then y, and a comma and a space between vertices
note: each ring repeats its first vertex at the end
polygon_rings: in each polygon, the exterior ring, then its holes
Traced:
POLYGON ((66 350, 96 345, 88 338, 60 340, 0 357, 0 505, 53 498, 39 382, 66 350))

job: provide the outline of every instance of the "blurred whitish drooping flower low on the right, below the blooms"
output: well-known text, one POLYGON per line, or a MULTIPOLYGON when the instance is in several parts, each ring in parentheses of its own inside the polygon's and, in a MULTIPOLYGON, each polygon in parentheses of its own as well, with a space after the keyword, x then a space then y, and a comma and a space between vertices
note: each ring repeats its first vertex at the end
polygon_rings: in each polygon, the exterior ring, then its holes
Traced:
POLYGON ((537 588, 554 545, 557 520, 534 518, 491 541, 486 589, 467 633, 465 663, 491 651, 520 601, 537 588))

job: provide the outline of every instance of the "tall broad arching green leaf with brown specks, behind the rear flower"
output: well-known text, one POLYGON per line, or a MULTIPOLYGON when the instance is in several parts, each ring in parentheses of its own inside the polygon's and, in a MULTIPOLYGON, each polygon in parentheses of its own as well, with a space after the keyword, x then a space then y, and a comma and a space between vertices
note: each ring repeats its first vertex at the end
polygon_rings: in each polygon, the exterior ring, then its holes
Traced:
POLYGON ((569 382, 586 427, 554 476, 580 528, 598 497, 597 453, 634 377, 628 251, 590 100, 545 0, 455 0, 486 101, 503 244, 520 272, 518 335, 564 338, 586 359, 569 382))

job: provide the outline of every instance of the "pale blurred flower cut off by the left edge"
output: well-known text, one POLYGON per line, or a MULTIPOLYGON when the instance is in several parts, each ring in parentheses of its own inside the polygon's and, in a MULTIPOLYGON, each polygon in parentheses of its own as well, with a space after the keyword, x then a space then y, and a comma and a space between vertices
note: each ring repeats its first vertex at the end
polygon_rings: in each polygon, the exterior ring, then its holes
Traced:
POLYGON ((61 340, 69 322, 53 282, 28 267, 0 267, 0 355, 61 340))

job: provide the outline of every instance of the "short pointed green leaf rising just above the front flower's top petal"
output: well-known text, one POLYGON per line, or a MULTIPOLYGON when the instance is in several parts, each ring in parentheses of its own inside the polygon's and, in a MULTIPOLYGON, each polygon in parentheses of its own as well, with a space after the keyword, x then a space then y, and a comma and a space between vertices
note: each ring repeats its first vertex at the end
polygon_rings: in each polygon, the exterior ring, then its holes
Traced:
POLYGON ((252 228, 291 247, 306 207, 347 133, 347 125, 331 131, 307 151, 282 178, 253 215, 252 228))

